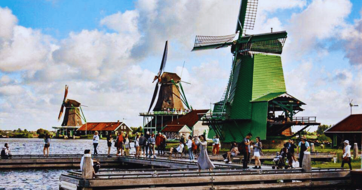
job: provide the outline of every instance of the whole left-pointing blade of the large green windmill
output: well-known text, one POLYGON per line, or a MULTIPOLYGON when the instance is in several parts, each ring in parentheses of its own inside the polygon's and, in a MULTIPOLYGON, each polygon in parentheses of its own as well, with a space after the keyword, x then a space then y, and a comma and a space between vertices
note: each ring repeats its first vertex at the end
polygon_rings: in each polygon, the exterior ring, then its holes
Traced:
POLYGON ((236 34, 224 36, 202 36, 197 35, 195 38, 194 48, 191 51, 217 49, 227 47, 233 44, 232 40, 236 34))

